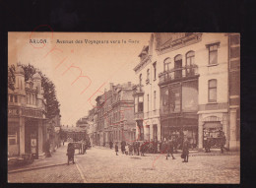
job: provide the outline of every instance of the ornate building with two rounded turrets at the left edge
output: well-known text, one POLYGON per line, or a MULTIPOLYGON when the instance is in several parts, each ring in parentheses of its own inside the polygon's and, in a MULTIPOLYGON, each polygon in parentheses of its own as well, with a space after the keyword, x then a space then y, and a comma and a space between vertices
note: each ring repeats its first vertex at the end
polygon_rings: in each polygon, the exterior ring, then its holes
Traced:
POLYGON ((8 156, 43 156, 46 142, 45 99, 38 73, 25 82, 20 63, 15 72, 15 90, 8 89, 8 156))

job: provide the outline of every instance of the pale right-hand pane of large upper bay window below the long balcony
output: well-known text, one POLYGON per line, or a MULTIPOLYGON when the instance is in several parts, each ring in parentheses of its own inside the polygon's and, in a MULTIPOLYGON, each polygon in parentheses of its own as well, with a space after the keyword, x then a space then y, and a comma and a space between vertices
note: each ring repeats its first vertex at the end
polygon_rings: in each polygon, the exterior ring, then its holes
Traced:
POLYGON ((198 82, 186 82, 182 85, 182 110, 197 111, 198 109, 198 82))

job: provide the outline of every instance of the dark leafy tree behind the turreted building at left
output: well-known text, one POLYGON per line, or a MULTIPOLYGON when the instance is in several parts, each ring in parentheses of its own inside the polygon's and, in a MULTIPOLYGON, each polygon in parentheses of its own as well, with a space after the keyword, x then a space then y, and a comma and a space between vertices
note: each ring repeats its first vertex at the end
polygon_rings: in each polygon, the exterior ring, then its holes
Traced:
MULTIPOLYGON (((37 69, 31 64, 22 65, 22 67, 25 72, 25 81, 32 79, 32 75, 35 74, 37 69)), ((60 113, 60 104, 56 97, 55 85, 41 71, 37 70, 37 72, 41 76, 41 86, 44 91, 43 97, 46 99, 46 117, 50 119, 60 113)))

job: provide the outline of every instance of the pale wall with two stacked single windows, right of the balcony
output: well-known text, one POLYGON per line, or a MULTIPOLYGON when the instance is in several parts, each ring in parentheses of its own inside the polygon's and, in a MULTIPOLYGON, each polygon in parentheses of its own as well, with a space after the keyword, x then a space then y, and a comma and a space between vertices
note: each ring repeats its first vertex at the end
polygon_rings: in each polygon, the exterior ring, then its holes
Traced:
MULTIPOLYGON (((228 140, 228 38, 225 33, 203 33, 201 46, 198 49, 199 58, 199 149, 203 149, 204 127, 207 118, 216 117, 218 120, 212 123, 221 122, 221 130, 228 140), (220 42, 218 47, 218 64, 209 65, 209 49, 207 44, 220 42), (217 80, 217 101, 209 101, 209 80, 217 80)), ((226 144, 228 147, 228 142, 226 144)))

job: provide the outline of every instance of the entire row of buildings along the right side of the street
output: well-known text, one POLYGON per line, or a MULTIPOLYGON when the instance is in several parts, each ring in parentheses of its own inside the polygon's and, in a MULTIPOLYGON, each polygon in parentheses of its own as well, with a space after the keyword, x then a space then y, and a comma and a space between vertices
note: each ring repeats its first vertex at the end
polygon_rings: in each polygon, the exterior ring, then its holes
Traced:
POLYGON ((94 144, 207 137, 240 147, 239 33, 152 33, 134 68, 136 85, 113 86, 89 111, 94 144))

